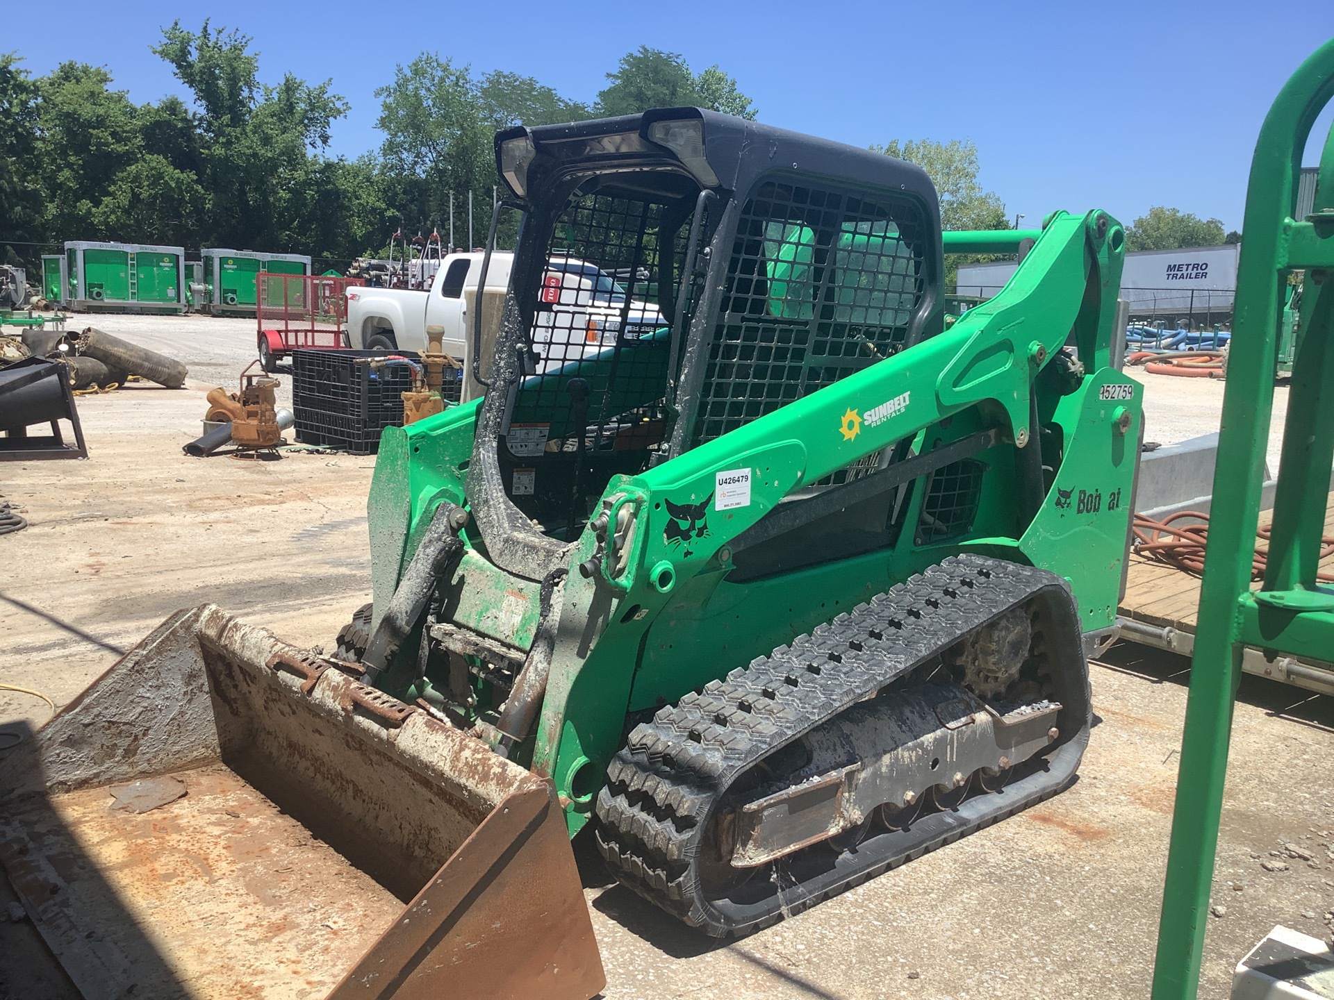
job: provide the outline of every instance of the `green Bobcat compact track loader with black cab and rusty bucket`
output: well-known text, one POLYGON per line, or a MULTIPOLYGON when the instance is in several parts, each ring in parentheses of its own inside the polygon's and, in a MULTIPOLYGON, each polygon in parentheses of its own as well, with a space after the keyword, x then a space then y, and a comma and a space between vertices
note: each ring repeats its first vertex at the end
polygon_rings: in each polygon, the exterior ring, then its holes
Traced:
POLYGON ((338 653, 189 612, 33 741, 67 827, 63 796, 195 760, 304 795, 412 917, 336 996, 596 992, 586 827, 727 935, 1061 792, 1123 585, 1114 219, 942 233, 916 167, 694 108, 510 129, 496 161, 522 225, 470 316, 486 392, 384 432, 338 653), (1022 263, 946 329, 948 252, 1022 263), (92 709, 168 673, 192 693, 157 724, 192 704, 204 745, 148 760, 120 719, 117 767, 71 776, 92 709))

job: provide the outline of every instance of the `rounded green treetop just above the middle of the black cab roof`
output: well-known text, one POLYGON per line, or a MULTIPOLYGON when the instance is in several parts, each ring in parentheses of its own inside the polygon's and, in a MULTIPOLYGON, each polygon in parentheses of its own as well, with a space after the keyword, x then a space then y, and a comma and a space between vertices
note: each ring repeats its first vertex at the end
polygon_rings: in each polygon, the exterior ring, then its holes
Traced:
POLYGON ((607 80, 608 85, 598 93, 599 115, 695 105, 743 119, 756 115, 750 97, 736 89, 736 80, 716 65, 695 76, 676 52, 640 45, 638 52, 620 57, 607 80))

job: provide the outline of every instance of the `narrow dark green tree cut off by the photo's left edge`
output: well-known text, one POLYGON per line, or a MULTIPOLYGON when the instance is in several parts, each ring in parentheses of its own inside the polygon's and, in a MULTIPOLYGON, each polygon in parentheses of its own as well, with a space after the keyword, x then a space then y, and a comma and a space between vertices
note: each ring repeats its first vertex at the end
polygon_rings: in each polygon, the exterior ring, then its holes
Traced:
POLYGON ((0 263, 32 265, 41 225, 37 85, 20 61, 0 53, 0 263))

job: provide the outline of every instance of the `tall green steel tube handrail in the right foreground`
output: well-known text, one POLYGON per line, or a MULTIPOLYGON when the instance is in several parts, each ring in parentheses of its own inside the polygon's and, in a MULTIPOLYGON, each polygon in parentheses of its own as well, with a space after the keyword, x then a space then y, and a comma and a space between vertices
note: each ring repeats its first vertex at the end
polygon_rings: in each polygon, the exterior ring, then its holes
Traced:
MULTIPOLYGON (((1293 365, 1269 569, 1262 591, 1253 595, 1250 589, 1287 273, 1334 265, 1334 224, 1291 219, 1306 140, 1331 97, 1334 41, 1302 63, 1279 92, 1251 160, 1153 1000, 1194 1000, 1199 985, 1245 644, 1301 652, 1297 647, 1309 644, 1313 635, 1334 644, 1334 615, 1323 611, 1334 608, 1334 592, 1315 583, 1334 467, 1334 345, 1329 343, 1334 293, 1325 291, 1334 283, 1334 271, 1323 284, 1307 271, 1307 293, 1319 301, 1313 304, 1293 365), (1294 621, 1298 628, 1290 629, 1294 621)), ((1321 179, 1331 175, 1334 132, 1325 147, 1321 179)), ((1334 183, 1322 187, 1317 207, 1327 207, 1334 197, 1334 183)))

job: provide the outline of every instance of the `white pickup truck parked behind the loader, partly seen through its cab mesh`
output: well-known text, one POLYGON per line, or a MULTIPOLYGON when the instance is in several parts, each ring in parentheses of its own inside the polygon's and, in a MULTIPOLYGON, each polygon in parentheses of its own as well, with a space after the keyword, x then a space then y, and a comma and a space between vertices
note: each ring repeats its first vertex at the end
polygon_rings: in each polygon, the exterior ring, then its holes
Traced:
MULTIPOLYGON (((424 291, 398 288, 347 289, 347 333, 351 347, 367 351, 426 349, 426 328, 444 327, 444 349, 467 367, 471 364, 472 327, 467 301, 478 288, 482 272, 479 252, 451 253, 424 291)), ((514 255, 491 253, 487 292, 503 292, 510 285, 514 255)), ((626 315, 626 337, 651 333, 663 325, 662 313, 651 303, 632 300, 606 271, 572 256, 552 256, 538 295, 534 348, 542 355, 539 371, 559 367, 584 353, 615 344, 626 315)))

